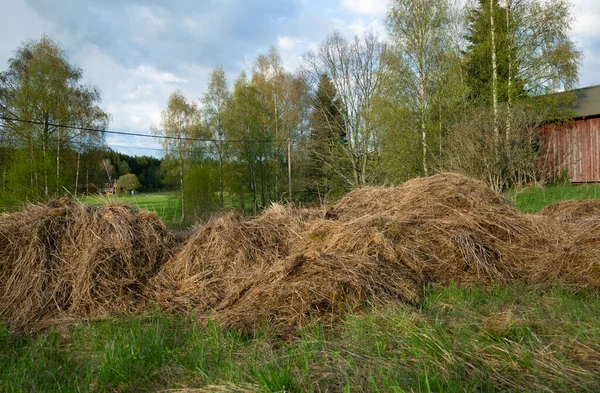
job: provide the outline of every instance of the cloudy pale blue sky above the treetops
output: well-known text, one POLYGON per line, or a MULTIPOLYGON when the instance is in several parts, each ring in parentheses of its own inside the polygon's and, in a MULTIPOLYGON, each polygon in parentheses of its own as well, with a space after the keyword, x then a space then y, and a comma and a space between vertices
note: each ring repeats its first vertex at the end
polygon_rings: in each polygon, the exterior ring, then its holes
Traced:
MULTIPOLYGON (((584 54, 579 86, 600 84, 600 0, 572 0, 571 37, 584 54)), ((221 65, 232 82, 275 46, 294 71, 334 29, 385 36, 387 0, 0 0, 0 70, 48 34, 102 91, 111 130, 150 133, 169 95, 205 93, 221 65)), ((114 150, 159 155, 149 138, 111 135, 114 150)))

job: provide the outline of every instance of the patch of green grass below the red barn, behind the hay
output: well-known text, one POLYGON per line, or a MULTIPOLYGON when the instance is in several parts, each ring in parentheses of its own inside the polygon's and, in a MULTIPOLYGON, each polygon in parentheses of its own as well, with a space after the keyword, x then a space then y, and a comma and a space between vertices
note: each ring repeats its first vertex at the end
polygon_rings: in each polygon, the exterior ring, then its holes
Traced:
POLYGON ((517 209, 537 213, 553 202, 600 198, 600 184, 530 186, 522 190, 509 190, 505 195, 517 209))

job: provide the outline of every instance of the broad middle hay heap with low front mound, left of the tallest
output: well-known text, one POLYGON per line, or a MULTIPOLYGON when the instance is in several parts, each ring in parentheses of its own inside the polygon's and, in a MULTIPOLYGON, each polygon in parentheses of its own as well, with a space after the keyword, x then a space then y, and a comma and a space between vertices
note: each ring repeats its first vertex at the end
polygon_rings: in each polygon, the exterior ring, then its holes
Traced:
POLYGON ((416 298, 413 283, 405 283, 410 272, 387 260, 297 253, 319 222, 326 222, 319 212, 280 205, 254 219, 214 218, 153 280, 156 300, 244 331, 270 324, 288 333, 309 318, 335 321, 370 300, 416 298))

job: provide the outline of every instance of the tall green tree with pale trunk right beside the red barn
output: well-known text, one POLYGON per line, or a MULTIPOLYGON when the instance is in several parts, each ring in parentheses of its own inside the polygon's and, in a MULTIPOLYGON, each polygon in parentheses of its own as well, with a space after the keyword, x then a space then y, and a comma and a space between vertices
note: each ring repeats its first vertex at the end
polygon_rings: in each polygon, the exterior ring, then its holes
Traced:
MULTIPOLYGON (((511 143, 518 139, 512 134, 521 132, 513 108, 537 103, 538 113, 554 106, 563 109, 563 118, 569 114, 568 105, 549 104, 553 97, 547 93, 577 82, 581 53, 568 36, 571 21, 567 0, 479 0, 470 12, 466 59, 471 98, 483 106, 491 103, 496 160, 501 162, 497 167, 514 182, 523 177, 511 153, 511 143), (502 105, 506 111, 500 110, 502 105)), ((554 111, 552 116, 561 114, 554 111)))

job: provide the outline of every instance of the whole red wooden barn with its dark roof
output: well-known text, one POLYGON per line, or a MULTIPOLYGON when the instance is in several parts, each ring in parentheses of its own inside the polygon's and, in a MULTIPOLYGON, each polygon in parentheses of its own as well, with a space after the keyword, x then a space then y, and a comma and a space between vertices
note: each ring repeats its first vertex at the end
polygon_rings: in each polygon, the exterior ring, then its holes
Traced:
POLYGON ((548 179, 566 174, 572 183, 600 182, 600 85, 574 91, 572 121, 541 127, 541 154, 548 179))

